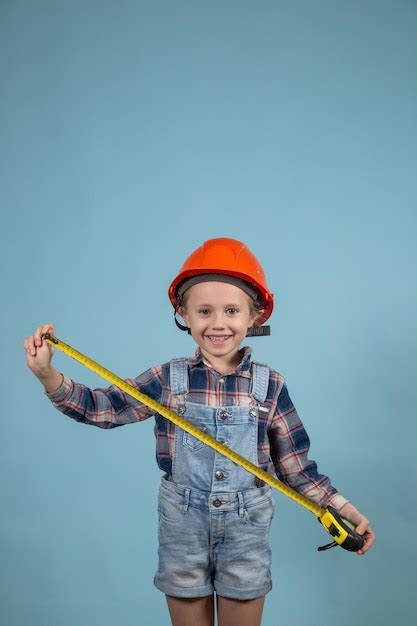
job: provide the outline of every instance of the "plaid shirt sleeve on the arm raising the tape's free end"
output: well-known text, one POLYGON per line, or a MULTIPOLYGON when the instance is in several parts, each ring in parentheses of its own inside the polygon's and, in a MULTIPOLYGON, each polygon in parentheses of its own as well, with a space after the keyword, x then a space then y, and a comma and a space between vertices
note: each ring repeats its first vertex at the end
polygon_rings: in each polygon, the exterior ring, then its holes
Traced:
MULTIPOLYGON (((160 402, 162 395, 162 368, 153 367, 136 378, 125 379, 127 383, 160 402)), ((63 380, 53 393, 44 391, 52 404, 68 417, 98 426, 99 428, 115 428, 124 424, 140 422, 154 411, 136 400, 116 385, 90 389, 82 383, 76 383, 63 375, 63 380)))

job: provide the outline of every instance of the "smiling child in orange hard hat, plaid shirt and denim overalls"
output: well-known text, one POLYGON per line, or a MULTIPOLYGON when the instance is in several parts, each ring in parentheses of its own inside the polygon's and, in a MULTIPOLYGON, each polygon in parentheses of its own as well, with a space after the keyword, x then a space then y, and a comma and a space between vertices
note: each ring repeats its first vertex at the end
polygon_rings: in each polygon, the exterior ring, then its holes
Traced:
MULTIPOLYGON (((356 525, 369 550, 368 520, 308 459, 309 439, 282 376, 240 348, 273 309, 264 272, 234 239, 211 239, 186 260, 169 288, 174 319, 197 343, 193 357, 173 359, 128 382, 297 491, 328 504, 356 525), (185 326, 178 322, 182 317, 185 326)), ((54 406, 101 428, 144 420, 152 410, 112 385, 89 389, 51 367, 42 341, 51 324, 27 337, 27 365, 54 406)), ((267 332, 263 333, 267 334, 267 332)), ((155 415, 159 491, 159 563, 154 583, 166 594, 174 626, 260 624, 271 590, 268 533, 274 501, 265 483, 155 415)))

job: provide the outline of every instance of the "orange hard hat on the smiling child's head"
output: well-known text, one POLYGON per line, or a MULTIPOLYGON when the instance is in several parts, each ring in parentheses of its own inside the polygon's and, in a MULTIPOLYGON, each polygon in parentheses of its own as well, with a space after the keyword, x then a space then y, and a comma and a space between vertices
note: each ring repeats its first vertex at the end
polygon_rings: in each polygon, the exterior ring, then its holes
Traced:
POLYGON ((259 296, 259 304, 264 309, 259 324, 266 322, 271 315, 274 296, 268 289, 262 266, 241 241, 227 237, 209 239, 192 252, 168 289, 169 299, 174 308, 178 304, 178 288, 181 283, 200 274, 219 274, 243 280, 253 287, 259 296))

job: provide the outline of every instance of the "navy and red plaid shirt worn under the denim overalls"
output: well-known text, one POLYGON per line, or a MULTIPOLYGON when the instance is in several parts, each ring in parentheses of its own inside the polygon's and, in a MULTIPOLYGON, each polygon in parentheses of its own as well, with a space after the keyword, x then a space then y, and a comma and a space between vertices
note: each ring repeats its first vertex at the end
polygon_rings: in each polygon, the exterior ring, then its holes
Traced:
MULTIPOLYGON (((220 374, 196 350, 189 362, 187 400, 211 407, 245 406, 250 402, 251 348, 241 350, 242 360, 231 374, 220 374)), ((176 410, 169 385, 169 362, 152 367, 137 378, 126 379, 139 391, 169 409, 176 410)), ((53 393, 44 392, 53 405, 65 415, 100 428, 115 428, 155 417, 156 457, 163 472, 171 474, 175 454, 175 424, 154 414, 152 409, 115 385, 89 389, 64 375, 61 386, 53 393)), ((331 504, 340 509, 346 498, 332 486, 330 479, 319 474, 317 464, 308 458, 309 437, 288 394, 283 377, 269 369, 266 400, 259 410, 258 464, 320 506, 331 504)))

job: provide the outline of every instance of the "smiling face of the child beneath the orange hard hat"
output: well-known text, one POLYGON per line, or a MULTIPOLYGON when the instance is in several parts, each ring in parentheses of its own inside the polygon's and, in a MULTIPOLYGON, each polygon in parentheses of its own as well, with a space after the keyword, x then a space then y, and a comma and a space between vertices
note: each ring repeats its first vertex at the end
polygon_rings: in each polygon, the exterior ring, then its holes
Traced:
POLYGON ((180 313, 203 355, 225 365, 237 361, 240 343, 257 317, 244 291, 216 281, 190 287, 180 313))

